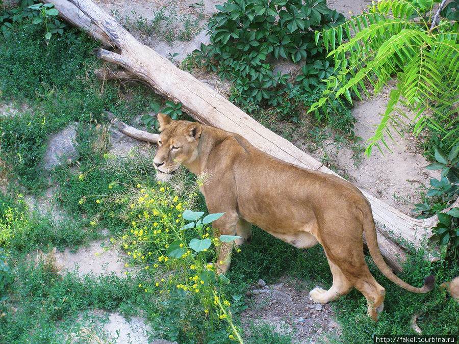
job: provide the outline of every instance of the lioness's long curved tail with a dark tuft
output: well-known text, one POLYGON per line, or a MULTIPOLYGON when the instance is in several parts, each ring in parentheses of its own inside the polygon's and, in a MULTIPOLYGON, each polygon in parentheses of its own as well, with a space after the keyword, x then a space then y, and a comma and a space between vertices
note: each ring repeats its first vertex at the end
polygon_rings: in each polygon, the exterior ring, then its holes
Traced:
POLYGON ((378 241, 376 237, 376 228, 374 226, 373 214, 371 213, 371 208, 363 211, 363 229, 365 237, 367 239, 368 250, 370 251, 371 257, 373 258, 374 263, 378 269, 389 278, 392 282, 399 285, 400 287, 409 290, 409 292, 424 294, 430 292, 435 286, 435 275, 431 275, 425 278, 424 285, 421 288, 414 287, 405 281, 397 277, 392 270, 388 267, 384 258, 382 258, 381 252, 379 251, 378 241))

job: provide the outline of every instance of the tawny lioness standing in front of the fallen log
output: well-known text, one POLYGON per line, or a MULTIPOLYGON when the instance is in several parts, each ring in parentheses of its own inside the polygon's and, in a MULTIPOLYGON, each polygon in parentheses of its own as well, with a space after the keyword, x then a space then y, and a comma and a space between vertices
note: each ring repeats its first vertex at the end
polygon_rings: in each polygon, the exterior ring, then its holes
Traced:
MULTIPOLYGON (((158 152, 154 163, 163 180, 179 165, 195 175, 206 172, 201 187, 209 213, 225 213, 213 222, 219 234, 247 240, 251 224, 298 248, 323 246, 333 275, 328 290, 315 288, 311 298, 327 303, 356 287, 365 296, 368 314, 377 321, 386 290, 368 270, 362 232, 376 266, 397 285, 427 293, 435 277, 422 288, 405 283, 383 260, 376 241, 370 203, 351 183, 339 177, 300 168, 256 149, 237 134, 195 122, 174 121, 158 114, 158 152)), ((242 242, 237 242, 240 245, 242 242)), ((230 264, 229 244, 220 250, 219 271, 230 264)))

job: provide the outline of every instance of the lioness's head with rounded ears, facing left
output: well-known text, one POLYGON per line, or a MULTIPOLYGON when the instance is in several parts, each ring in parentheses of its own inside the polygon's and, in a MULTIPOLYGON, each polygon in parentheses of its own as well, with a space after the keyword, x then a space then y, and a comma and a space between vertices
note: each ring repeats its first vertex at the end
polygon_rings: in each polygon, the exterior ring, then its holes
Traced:
POLYGON ((158 168, 157 178, 167 181, 180 165, 188 167, 196 160, 202 128, 199 123, 173 121, 161 113, 158 122, 161 134, 153 162, 158 168))

